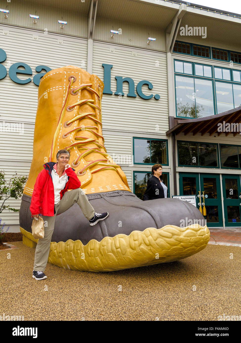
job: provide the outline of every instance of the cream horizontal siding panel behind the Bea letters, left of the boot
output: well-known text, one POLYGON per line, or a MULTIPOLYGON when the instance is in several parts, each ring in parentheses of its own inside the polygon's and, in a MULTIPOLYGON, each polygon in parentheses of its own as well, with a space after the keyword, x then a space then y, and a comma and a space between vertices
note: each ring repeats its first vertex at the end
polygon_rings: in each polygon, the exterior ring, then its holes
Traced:
MULTIPOLYGON (((31 78, 33 80, 34 75, 38 74, 35 68, 39 65, 51 69, 76 65, 84 70, 87 69, 87 40, 54 34, 44 35, 42 32, 17 27, 8 27, 9 36, 5 36, 3 28, 0 25, 1 49, 6 51, 7 60, 1 64, 6 67, 8 72, 10 66, 16 62, 24 62, 32 69, 33 75, 18 74, 20 79, 31 78), (39 40, 33 40, 33 34, 38 35, 39 40), (63 39, 64 44, 58 44, 58 39, 63 39)), ((6 78, 0 80, 1 120, 34 123, 37 93, 38 86, 32 81, 20 85, 13 82, 8 73, 6 78)))

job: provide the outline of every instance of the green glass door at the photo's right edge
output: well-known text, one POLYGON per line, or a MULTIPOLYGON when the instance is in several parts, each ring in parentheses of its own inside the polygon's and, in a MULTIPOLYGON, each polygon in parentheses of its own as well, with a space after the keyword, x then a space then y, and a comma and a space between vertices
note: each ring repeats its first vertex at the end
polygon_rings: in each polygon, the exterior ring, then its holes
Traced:
POLYGON ((225 226, 240 226, 240 176, 222 175, 222 189, 225 226))

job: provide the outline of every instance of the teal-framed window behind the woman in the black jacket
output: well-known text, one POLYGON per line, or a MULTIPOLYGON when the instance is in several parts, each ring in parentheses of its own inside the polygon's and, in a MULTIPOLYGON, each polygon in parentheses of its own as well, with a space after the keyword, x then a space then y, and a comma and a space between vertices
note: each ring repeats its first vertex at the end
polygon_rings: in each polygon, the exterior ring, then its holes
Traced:
MULTIPOLYGON (((149 171, 133 171, 134 177, 134 194, 143 200, 143 195, 146 191, 147 180, 152 177, 152 173, 149 171)), ((169 190, 169 173, 162 173, 161 179, 168 188, 167 198, 170 197, 169 190)))

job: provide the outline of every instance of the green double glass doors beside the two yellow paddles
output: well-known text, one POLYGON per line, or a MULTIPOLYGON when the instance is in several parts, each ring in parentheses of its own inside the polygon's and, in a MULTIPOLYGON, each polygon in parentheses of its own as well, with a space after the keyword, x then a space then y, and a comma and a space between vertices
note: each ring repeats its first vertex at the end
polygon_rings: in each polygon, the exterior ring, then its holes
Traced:
MULTIPOLYGON (((199 208, 199 202, 205 204, 204 217, 207 225, 209 227, 223 226, 219 174, 179 173, 179 194, 196 195, 197 208, 199 208), (204 198, 201 197, 201 200, 198 198, 199 191, 201 191, 201 196, 204 192, 204 198)), ((203 210, 204 205, 201 207, 203 210)))

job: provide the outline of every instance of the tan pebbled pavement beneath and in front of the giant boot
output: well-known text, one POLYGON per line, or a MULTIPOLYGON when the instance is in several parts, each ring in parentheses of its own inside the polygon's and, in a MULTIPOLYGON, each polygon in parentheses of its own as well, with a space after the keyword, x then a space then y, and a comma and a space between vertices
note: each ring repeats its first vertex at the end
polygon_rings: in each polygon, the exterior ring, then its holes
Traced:
POLYGON ((0 251, 0 315, 21 315, 24 320, 164 321, 241 315, 237 246, 208 244, 176 262, 105 273, 48 263, 47 279, 36 281, 35 249, 12 244, 19 249, 0 251))

